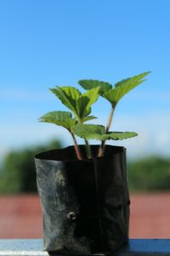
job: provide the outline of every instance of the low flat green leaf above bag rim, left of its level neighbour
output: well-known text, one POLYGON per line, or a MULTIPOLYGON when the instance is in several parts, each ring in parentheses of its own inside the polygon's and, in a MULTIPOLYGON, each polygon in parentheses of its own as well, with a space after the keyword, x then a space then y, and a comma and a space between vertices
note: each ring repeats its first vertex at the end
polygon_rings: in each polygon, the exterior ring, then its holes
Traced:
POLYGON ((78 136, 85 139, 101 140, 105 133, 105 127, 102 125, 75 125, 72 131, 78 136))

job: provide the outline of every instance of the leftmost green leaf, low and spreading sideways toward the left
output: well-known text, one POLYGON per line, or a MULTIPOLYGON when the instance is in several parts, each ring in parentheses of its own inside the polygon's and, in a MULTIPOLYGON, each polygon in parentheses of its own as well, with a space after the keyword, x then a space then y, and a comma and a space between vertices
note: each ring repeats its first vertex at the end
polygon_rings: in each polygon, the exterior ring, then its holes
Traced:
POLYGON ((71 131, 72 127, 77 124, 77 120, 72 119, 71 113, 66 111, 48 112, 42 115, 38 120, 40 122, 62 126, 69 131, 71 131))

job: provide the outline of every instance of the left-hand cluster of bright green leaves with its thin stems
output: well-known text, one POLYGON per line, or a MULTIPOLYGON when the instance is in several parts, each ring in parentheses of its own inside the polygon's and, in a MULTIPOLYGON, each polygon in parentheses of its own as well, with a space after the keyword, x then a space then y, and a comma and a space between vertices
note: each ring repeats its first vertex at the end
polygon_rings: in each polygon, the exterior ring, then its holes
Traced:
MULTIPOLYGON (((92 111, 91 106, 98 100, 99 88, 96 87, 94 89, 88 90, 83 94, 71 86, 56 86, 54 89, 50 90, 54 93, 55 96, 59 98, 65 107, 71 110, 71 112, 74 114, 74 118, 72 118, 72 114, 70 112, 54 111, 44 114, 39 119, 39 121, 60 125, 69 131, 74 142, 77 159, 81 160, 82 154, 80 152, 80 148, 77 145, 77 140, 74 136, 73 128, 77 124, 82 125, 91 119, 96 119, 96 117, 90 115, 90 113, 92 111)), ((91 158, 91 150, 88 145, 88 140, 86 138, 84 139, 88 157, 91 158)))

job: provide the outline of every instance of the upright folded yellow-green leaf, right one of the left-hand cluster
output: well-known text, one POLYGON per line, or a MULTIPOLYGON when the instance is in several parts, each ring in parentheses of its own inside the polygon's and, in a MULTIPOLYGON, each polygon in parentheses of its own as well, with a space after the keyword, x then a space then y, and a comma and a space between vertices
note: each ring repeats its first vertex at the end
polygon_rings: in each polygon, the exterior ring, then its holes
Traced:
POLYGON ((92 90, 88 90, 83 93, 77 100, 77 113, 80 119, 84 119, 87 113, 90 110, 90 107, 97 101, 99 98, 99 87, 92 90))

